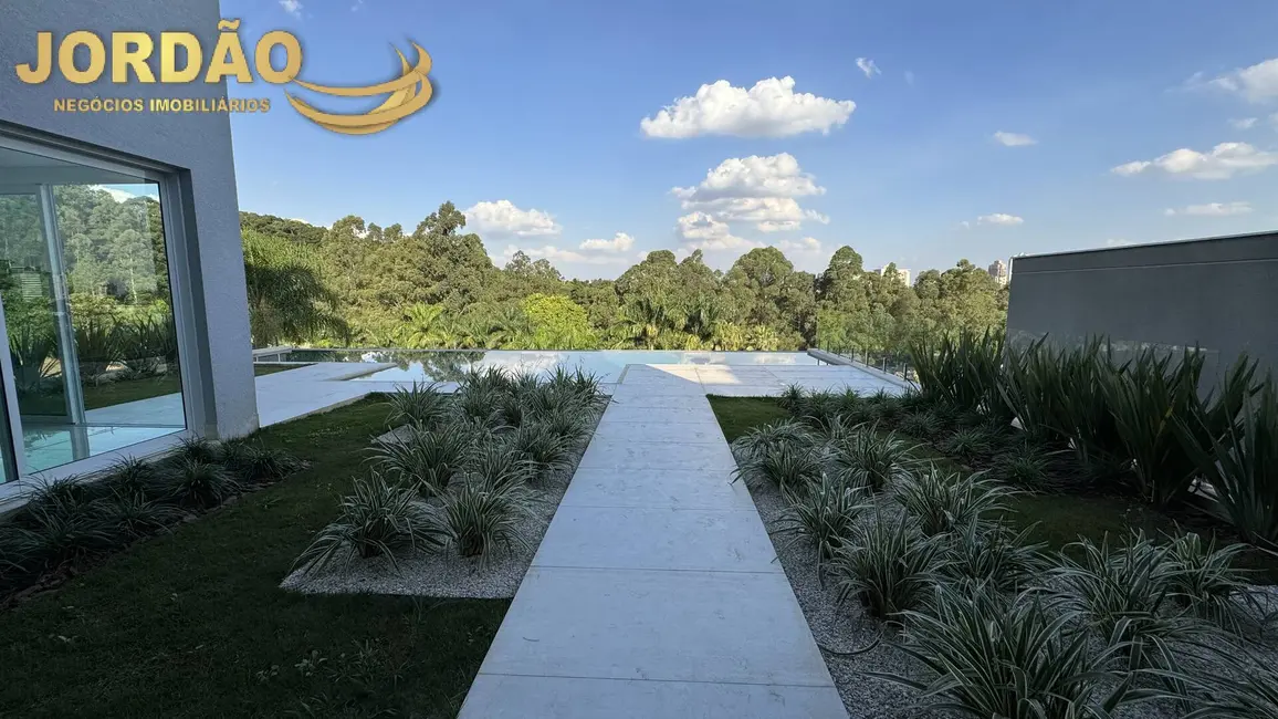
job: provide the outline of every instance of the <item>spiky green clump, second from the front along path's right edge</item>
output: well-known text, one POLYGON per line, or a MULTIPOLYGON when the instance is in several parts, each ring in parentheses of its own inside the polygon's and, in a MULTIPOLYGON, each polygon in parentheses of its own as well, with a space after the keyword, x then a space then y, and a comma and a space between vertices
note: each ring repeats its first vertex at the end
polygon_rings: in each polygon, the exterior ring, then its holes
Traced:
POLYGON ((900 620, 919 609, 944 568, 944 545, 919 531, 906 514, 875 516, 860 523, 851 540, 835 553, 833 571, 840 601, 860 600, 881 620, 900 620))

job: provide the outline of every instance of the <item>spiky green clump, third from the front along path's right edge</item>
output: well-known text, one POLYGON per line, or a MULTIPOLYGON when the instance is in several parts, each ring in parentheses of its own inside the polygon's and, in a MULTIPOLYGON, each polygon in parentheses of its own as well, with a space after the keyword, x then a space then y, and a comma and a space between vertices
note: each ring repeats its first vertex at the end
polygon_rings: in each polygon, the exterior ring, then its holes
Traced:
POLYGON ((787 495, 790 507, 776 532, 794 535, 791 541, 812 544, 817 550, 817 576, 823 581, 826 563, 852 536, 856 519, 869 508, 868 496, 869 491, 860 485, 822 476, 806 491, 787 495))

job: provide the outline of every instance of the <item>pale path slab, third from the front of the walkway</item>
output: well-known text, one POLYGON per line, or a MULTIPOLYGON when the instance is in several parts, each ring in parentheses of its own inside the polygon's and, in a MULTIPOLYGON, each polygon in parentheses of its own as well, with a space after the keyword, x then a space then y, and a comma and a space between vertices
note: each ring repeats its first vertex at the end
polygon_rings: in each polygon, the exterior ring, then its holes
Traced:
POLYGON ((665 507, 560 507, 533 565, 782 571, 757 510, 665 507))

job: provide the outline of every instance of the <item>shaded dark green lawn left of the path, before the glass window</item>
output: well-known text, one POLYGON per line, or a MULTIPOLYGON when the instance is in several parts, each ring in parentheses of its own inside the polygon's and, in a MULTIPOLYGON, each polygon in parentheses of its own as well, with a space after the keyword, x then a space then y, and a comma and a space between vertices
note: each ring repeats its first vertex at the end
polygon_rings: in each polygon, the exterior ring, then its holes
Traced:
POLYGON ((385 417, 366 399, 261 431, 311 468, 0 613, 0 716, 455 715, 507 600, 277 587, 385 417))

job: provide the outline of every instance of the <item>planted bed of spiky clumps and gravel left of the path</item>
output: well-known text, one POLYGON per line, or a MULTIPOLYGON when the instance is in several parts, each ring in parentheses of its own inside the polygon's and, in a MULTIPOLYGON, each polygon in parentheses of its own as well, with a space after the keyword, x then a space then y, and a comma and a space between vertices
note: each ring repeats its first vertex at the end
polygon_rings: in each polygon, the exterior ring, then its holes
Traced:
POLYGON ((408 423, 373 441, 373 491, 346 499, 281 586, 512 597, 606 403, 580 372, 468 372, 452 395, 397 391, 390 421, 408 423))

